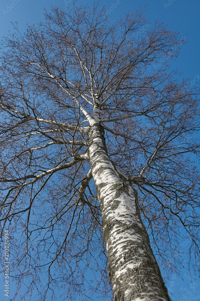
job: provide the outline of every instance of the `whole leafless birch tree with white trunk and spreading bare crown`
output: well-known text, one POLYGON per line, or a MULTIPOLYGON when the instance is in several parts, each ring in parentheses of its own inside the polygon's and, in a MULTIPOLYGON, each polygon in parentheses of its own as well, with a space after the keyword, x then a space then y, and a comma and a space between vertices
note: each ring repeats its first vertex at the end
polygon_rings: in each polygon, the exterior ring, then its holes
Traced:
POLYGON ((162 23, 135 35, 142 12, 110 25, 98 5, 53 8, 4 41, 1 235, 21 231, 19 287, 47 270, 41 300, 56 285, 73 299, 87 268, 115 301, 170 300, 151 246, 178 270, 180 229, 198 259, 197 93, 168 69, 184 39, 162 23))

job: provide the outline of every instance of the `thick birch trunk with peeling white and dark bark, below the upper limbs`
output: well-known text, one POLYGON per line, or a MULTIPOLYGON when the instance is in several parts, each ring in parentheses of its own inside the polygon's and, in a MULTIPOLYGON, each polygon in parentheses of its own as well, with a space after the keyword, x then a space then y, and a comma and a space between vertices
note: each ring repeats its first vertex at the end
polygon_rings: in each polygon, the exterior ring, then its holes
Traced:
POLYGON ((167 288, 137 206, 107 154, 104 129, 90 127, 89 156, 102 213, 102 231, 114 301, 169 301, 167 288))

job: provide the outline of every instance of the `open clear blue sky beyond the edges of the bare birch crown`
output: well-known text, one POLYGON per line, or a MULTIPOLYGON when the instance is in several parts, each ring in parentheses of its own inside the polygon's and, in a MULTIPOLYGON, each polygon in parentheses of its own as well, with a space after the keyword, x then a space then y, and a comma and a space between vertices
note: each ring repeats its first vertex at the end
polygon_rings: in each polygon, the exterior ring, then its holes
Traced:
MULTIPOLYGON (((92 6, 93 1, 78 0, 77 5, 92 6)), ((199 59, 199 31, 200 31, 200 1, 199 0, 121 0, 100 1, 101 5, 111 8, 109 18, 115 22, 119 14, 128 10, 136 11, 139 5, 148 5, 145 16, 149 23, 154 24, 155 20, 163 21, 172 31, 178 31, 186 38, 186 43, 182 46, 179 57, 172 63, 177 68, 183 78, 190 78, 191 85, 200 84, 200 59, 199 59)), ((51 5, 73 6, 72 1, 68 0, 4 0, 0 3, 0 36, 6 36, 8 30, 12 32, 11 21, 18 22, 20 31, 25 31, 26 24, 39 23, 43 21, 44 8, 50 11, 51 5), (66 4, 65 4, 66 3, 66 4)), ((186 246, 187 248, 187 246, 186 246)), ((186 258, 187 262, 187 258, 186 258)), ((192 276, 194 276, 192 274, 192 276)), ((2 287, 3 278, 0 276, 0 286, 2 287)), ((169 293, 172 293, 173 301, 197 301, 200 300, 200 281, 194 276, 193 284, 187 270, 181 270, 181 276, 172 274, 171 280, 166 284, 169 293), (182 280, 183 278, 183 280, 182 280), (196 279, 196 280, 195 280, 196 279)), ((8 300, 7 297, 3 300, 8 300)))

